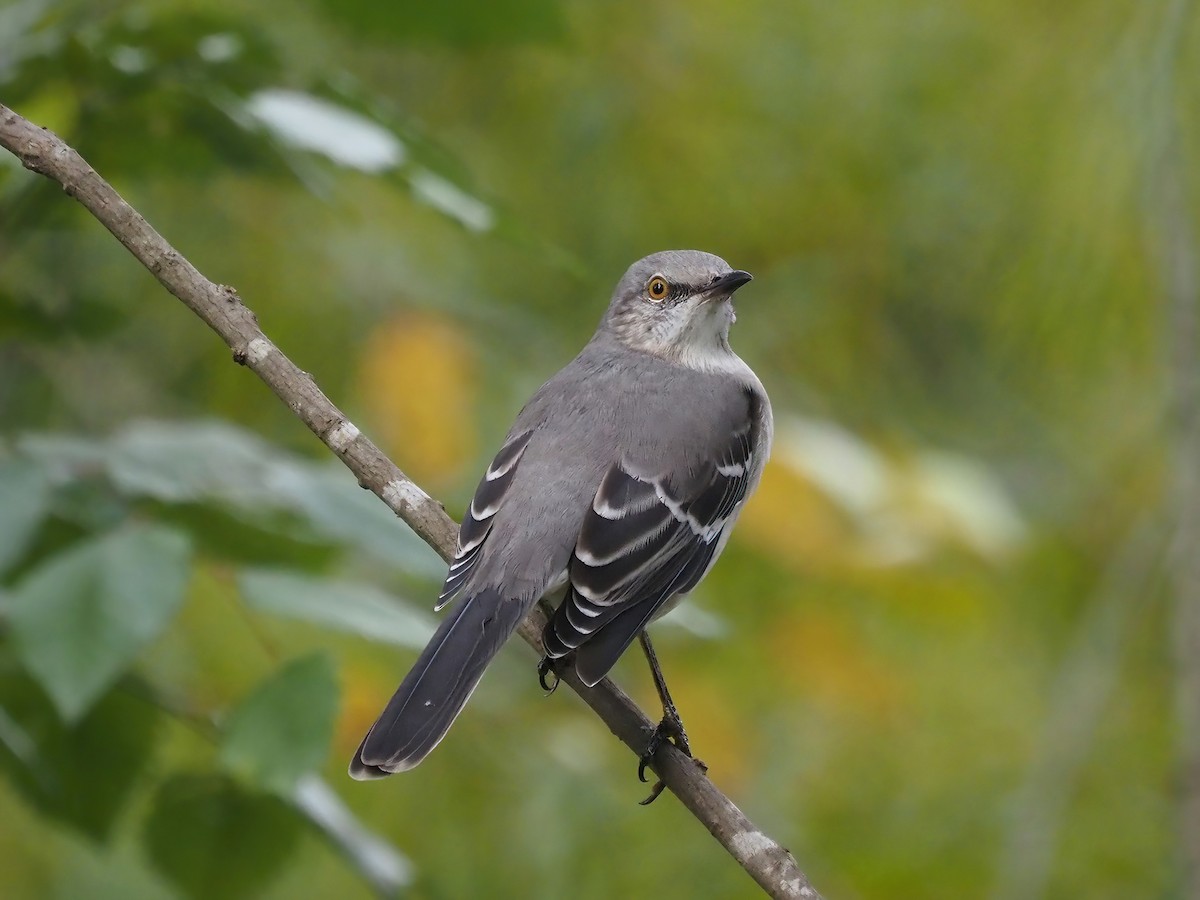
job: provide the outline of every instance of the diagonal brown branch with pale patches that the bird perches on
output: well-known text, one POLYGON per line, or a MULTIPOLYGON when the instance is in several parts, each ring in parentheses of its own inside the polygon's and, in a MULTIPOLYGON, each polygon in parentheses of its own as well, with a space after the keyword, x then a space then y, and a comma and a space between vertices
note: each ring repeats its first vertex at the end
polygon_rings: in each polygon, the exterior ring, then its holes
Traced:
MULTIPOLYGON (((62 185, 184 305, 199 316, 233 349, 236 362, 252 370, 275 391, 359 479, 374 492, 443 559, 454 553, 457 529, 442 504, 432 499, 364 436, 312 377, 301 371, 263 334, 258 319, 238 292, 205 278, 130 206, 96 172, 53 132, 38 128, 0 104, 0 146, 25 168, 62 185)), ((535 607, 520 628, 536 650, 545 613, 535 607)), ((635 754, 653 731, 653 722, 610 679, 587 688, 564 671, 563 682, 604 720, 635 754)), ((664 744, 655 773, 763 890, 774 898, 820 900, 792 854, 746 818, 692 760, 664 744)))

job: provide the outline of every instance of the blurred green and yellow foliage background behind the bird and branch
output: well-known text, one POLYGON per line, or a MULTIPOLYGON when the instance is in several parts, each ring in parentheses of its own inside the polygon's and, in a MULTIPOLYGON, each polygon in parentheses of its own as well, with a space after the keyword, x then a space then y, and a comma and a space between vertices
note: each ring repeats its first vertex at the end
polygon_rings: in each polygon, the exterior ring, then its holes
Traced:
MULTIPOLYGON (((451 511, 625 265, 754 271, 774 460, 660 629, 712 775, 830 898, 1169 896, 1198 50, 1183 0, 8 0, 0 101, 451 511)), ((349 782, 440 562, 7 155, 0 421, 0 895, 755 895, 520 647, 349 782)))

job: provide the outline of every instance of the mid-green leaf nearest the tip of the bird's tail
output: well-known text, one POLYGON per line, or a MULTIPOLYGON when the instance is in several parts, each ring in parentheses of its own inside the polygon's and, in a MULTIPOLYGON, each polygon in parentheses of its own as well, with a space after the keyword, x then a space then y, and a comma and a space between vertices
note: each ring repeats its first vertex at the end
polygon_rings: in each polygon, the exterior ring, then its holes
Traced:
POLYGON ((325 762, 336 715, 337 682, 329 659, 289 662, 229 715, 221 763, 258 787, 287 793, 325 762))

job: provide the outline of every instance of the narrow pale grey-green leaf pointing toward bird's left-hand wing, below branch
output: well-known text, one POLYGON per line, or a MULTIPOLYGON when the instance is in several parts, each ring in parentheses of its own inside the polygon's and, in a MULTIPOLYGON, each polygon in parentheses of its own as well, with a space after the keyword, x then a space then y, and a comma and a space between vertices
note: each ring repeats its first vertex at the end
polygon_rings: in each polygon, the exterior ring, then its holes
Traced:
POLYGON ((433 634, 432 617, 370 584, 246 569, 238 576, 238 587, 259 612, 328 625, 372 641, 420 649, 433 634))

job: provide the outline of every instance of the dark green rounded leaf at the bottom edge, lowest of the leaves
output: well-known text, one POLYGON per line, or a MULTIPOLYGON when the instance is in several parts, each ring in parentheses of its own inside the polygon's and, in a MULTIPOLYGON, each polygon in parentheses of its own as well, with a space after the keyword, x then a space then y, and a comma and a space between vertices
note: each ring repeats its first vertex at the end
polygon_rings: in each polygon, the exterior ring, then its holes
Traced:
POLYGON ((150 862, 185 896, 256 896, 295 850, 300 816, 277 797, 223 775, 162 784, 145 822, 150 862))

